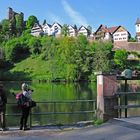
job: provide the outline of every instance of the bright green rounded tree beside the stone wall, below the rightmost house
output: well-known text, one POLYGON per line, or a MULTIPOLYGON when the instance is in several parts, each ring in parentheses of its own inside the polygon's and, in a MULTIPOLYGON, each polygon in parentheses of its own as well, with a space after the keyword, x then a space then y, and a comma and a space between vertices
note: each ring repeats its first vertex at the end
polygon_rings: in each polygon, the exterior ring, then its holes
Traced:
POLYGON ((114 62, 120 69, 124 69, 127 67, 127 58, 128 53, 126 50, 117 50, 114 55, 114 62))

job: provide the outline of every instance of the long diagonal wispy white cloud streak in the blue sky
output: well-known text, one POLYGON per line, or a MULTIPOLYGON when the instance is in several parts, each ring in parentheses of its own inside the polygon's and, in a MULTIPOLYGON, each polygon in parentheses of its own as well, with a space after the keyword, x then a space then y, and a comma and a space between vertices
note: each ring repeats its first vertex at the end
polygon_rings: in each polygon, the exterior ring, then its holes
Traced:
POLYGON ((88 22, 85 17, 83 17, 80 13, 75 11, 65 0, 62 0, 62 5, 64 7, 65 12, 71 18, 73 24, 88 26, 88 22))

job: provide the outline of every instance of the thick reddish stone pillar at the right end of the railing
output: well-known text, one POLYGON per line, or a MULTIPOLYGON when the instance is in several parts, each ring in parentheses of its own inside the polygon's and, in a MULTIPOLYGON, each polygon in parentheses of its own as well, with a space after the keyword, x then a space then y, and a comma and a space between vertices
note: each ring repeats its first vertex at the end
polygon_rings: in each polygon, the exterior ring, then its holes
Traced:
POLYGON ((117 91, 115 75, 97 75, 97 118, 107 121, 118 117, 114 106, 118 104, 114 93, 117 91))

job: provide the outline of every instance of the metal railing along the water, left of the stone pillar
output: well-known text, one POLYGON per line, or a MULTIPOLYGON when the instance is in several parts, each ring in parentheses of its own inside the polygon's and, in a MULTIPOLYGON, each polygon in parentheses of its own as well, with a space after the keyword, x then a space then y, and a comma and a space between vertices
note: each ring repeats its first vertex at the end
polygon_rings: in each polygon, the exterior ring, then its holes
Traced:
MULTIPOLYGON (((29 123, 30 123, 30 127, 32 126, 32 117, 33 115, 54 115, 54 114, 60 114, 60 115, 67 115, 67 114, 71 114, 71 115, 75 115, 75 114, 86 114, 86 113, 93 113, 93 116, 95 115, 95 111, 96 111, 96 100, 63 100, 63 101, 46 101, 46 102, 36 102, 37 106, 39 106, 39 104, 52 104, 53 108, 51 112, 48 112, 46 110, 46 112, 33 112, 34 109, 36 107, 34 107, 31 111, 30 111, 30 115, 29 115, 29 123), (75 104, 77 103, 90 103, 92 105, 91 110, 75 110, 75 104), (70 104, 72 106, 71 111, 69 112, 58 112, 56 111, 56 106, 58 107, 59 105, 62 104, 70 104)), ((7 105, 15 105, 16 103, 7 103, 7 105)), ((6 112, 6 116, 20 116, 21 113, 8 113, 8 111, 6 112)), ((64 117, 63 117, 64 118, 64 117)))

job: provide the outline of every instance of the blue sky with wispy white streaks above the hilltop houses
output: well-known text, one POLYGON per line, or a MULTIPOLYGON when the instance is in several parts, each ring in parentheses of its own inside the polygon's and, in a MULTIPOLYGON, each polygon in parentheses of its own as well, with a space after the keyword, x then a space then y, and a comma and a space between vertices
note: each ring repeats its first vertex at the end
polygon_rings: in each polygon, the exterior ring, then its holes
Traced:
POLYGON ((24 19, 34 15, 40 24, 58 22, 92 27, 123 26, 135 36, 135 22, 140 18, 140 0, 0 0, 0 21, 7 18, 7 8, 23 12, 24 19))

